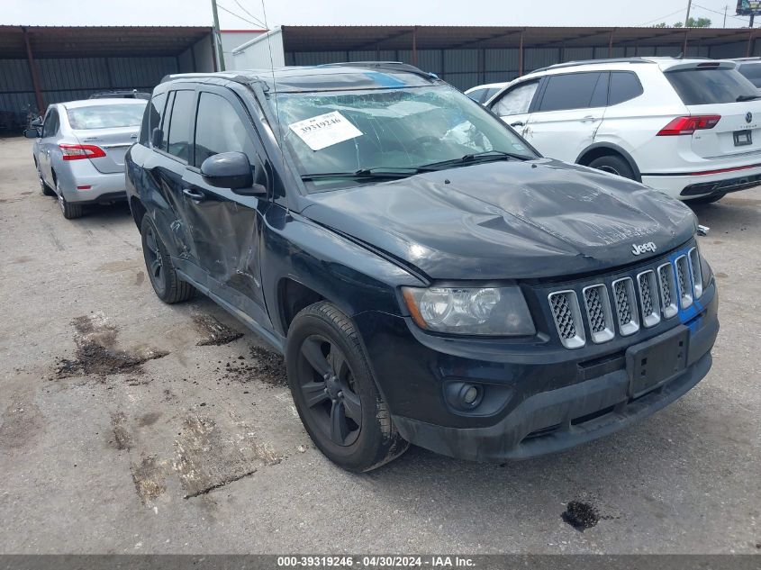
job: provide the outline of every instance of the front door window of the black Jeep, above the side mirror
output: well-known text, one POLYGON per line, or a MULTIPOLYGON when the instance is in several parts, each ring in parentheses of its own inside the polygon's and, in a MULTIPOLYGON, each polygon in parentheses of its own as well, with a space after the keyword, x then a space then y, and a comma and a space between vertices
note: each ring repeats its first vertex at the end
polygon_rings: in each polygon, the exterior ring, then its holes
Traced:
POLYGON ((202 93, 195 119, 195 166, 221 152, 254 154, 246 126, 232 105, 222 96, 202 93))

